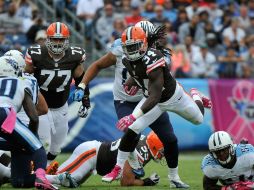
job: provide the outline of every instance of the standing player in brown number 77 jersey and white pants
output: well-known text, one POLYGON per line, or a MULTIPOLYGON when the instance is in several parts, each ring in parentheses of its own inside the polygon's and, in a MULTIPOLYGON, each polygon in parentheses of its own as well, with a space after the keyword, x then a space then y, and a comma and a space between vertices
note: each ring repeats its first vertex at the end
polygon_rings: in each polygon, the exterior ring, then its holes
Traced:
POLYGON ((85 50, 70 47, 69 36, 67 25, 54 22, 47 28, 45 45, 28 48, 25 56, 25 72, 34 73, 49 108, 47 115, 39 117, 39 136, 48 149, 49 162, 60 153, 67 136, 71 81, 74 78, 75 84, 79 84, 84 75, 85 50))

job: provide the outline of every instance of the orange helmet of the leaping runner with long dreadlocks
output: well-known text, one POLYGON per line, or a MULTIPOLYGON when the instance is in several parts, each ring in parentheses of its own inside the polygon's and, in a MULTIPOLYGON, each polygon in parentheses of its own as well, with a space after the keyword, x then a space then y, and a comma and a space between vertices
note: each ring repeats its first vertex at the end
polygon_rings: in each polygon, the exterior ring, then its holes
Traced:
POLYGON ((141 27, 131 26, 122 34, 122 48, 127 59, 136 61, 147 51, 146 33, 141 27))

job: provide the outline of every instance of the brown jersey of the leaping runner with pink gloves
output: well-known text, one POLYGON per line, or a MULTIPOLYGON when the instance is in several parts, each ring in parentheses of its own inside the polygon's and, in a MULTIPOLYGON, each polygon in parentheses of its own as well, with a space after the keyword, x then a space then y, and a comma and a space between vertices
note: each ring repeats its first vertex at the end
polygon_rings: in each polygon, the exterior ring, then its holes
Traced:
POLYGON ((137 61, 129 61, 123 56, 122 62, 129 74, 143 90, 145 97, 148 97, 149 74, 157 69, 163 68, 164 84, 160 102, 168 100, 175 92, 176 80, 169 72, 164 55, 154 48, 149 48, 146 54, 137 61))

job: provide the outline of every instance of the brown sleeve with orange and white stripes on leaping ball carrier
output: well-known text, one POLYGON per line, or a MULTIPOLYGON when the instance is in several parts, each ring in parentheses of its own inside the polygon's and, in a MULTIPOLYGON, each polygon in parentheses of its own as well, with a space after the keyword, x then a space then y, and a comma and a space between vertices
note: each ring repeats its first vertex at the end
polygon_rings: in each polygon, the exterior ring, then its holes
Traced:
POLYGON ((146 74, 155 70, 158 67, 165 67, 166 61, 162 53, 159 51, 148 50, 147 55, 144 57, 146 61, 146 74))

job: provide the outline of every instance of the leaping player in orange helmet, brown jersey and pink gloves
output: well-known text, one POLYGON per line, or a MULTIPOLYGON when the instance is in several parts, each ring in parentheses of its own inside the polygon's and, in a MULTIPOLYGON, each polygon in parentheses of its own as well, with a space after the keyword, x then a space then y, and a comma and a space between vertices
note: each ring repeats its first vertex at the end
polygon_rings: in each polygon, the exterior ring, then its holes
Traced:
POLYGON ((162 52, 148 48, 147 43, 141 27, 129 27, 122 34, 122 62, 131 75, 129 88, 139 86, 144 98, 130 115, 117 123, 117 128, 127 132, 118 149, 117 164, 103 181, 111 182, 121 176, 125 160, 135 149, 134 139, 166 111, 175 112, 196 125, 203 122, 204 106, 199 92, 192 90, 192 97, 185 93, 170 74, 162 52))

